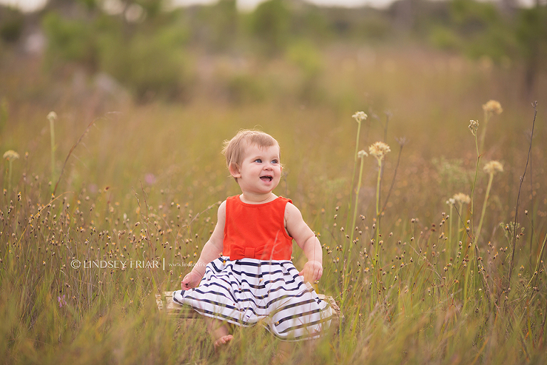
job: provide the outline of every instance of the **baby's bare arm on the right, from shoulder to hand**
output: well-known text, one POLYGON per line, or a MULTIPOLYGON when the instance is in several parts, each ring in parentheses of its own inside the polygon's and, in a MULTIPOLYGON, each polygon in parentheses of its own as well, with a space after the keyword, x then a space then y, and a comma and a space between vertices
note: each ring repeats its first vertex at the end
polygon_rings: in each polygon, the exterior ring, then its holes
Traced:
POLYGON ((285 207, 285 222, 288 234, 293 237, 298 247, 304 251, 308 262, 300 272, 305 282, 314 282, 323 275, 323 251, 315 233, 306 225, 302 214, 290 202, 285 207))

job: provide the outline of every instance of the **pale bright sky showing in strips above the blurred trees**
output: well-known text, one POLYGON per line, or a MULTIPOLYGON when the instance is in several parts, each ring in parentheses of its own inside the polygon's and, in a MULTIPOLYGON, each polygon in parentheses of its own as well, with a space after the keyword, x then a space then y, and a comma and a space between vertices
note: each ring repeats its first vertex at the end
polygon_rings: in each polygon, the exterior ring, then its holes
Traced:
MULTIPOLYGON (((11 4, 19 6, 23 11, 33 11, 41 8, 46 4, 47 0, 0 0, 1 4, 11 4)), ((115 1, 115 0, 113 0, 115 1)), ((189 4, 210 4, 218 0, 171 0, 174 4, 189 5, 189 4)), ((237 0, 240 9, 251 10, 264 0, 237 0)), ((318 5, 338 5, 338 6, 362 6, 368 4, 370 6, 382 7, 390 4, 393 0, 306 0, 318 5)), ((536 0, 518 0, 519 4, 530 5, 536 0)))

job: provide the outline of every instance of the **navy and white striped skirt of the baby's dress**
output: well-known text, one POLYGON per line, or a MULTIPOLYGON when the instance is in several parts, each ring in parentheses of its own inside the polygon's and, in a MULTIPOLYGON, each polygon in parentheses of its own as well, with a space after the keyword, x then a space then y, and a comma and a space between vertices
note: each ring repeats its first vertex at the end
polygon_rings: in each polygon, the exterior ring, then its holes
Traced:
POLYGON ((288 260, 219 257, 207 264, 198 287, 173 292, 173 300, 239 326, 264 324, 286 341, 321 336, 333 315, 288 260))

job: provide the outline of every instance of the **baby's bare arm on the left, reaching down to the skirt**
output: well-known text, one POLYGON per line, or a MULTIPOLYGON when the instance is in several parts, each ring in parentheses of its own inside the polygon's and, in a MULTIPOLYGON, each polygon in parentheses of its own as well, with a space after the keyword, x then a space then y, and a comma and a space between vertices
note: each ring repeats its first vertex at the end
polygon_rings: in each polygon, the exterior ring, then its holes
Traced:
POLYGON ((201 281, 203 275, 205 274, 205 267, 209 262, 212 262, 214 259, 217 259, 222 252, 222 242, 224 241, 224 223, 226 222, 226 201, 222 202, 219 206, 218 212, 218 221, 217 225, 214 227, 213 234, 209 238, 209 241, 204 245, 201 255, 196 264, 192 268, 192 271, 189 272, 180 286, 182 290, 192 289, 197 287, 201 281))

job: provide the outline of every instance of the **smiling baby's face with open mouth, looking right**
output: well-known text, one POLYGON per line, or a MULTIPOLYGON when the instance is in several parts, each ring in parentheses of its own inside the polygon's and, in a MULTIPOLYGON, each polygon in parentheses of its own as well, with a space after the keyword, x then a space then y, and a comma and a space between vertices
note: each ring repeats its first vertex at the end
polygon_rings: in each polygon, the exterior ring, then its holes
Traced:
POLYGON ((242 192, 266 194, 271 192, 281 179, 279 146, 260 148, 252 144, 245 148, 244 158, 237 172, 232 173, 242 192))

